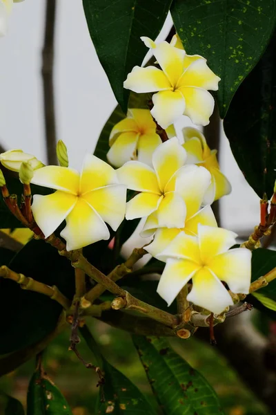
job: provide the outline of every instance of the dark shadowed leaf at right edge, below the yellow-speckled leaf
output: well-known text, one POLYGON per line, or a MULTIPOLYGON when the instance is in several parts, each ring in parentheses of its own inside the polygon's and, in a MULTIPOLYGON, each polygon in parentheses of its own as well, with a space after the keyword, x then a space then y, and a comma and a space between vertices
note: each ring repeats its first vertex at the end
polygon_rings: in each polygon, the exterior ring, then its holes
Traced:
POLYGON ((276 173, 276 34, 239 86, 224 120, 233 155, 260 198, 273 194, 276 173))

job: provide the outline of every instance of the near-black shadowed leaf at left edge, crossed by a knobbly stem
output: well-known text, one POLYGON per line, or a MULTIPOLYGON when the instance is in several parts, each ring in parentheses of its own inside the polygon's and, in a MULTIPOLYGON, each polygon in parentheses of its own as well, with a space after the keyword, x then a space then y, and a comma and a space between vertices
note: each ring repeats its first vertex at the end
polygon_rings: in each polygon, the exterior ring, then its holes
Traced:
MULTIPOLYGON (((68 298, 75 293, 74 270, 65 257, 44 241, 32 240, 12 259, 10 268, 50 286, 68 298)), ((61 306, 46 295, 22 290, 0 279, 0 354, 11 353, 43 339, 55 329, 61 306)))

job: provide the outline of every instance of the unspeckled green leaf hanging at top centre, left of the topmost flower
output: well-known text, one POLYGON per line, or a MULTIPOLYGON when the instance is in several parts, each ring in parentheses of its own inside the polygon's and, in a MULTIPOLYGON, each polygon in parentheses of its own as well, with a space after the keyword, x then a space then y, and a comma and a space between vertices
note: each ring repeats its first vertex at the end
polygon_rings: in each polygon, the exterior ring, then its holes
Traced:
POLYGON ((141 65, 147 48, 141 36, 155 39, 172 0, 83 0, 92 42, 115 97, 126 112, 129 91, 123 83, 135 65, 141 65))

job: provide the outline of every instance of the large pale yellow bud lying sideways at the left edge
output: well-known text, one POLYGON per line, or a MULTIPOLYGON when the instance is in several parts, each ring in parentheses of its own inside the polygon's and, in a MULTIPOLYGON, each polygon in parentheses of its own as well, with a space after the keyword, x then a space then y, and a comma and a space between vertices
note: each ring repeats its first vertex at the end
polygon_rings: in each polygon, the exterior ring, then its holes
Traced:
POLYGON ((19 172, 23 161, 28 161, 34 170, 44 166, 36 157, 32 156, 32 154, 24 153, 23 150, 9 150, 0 154, 1 164, 6 169, 12 170, 12 172, 19 172))

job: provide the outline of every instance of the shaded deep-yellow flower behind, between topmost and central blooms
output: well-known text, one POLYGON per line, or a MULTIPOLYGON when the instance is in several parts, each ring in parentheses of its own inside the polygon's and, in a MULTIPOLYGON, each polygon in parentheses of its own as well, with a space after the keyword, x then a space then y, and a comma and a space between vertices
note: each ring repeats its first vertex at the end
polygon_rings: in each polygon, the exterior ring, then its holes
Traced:
POLYGON ((109 137, 108 161, 121 167, 129 160, 151 165, 152 154, 161 144, 156 124, 148 109, 128 109, 128 117, 112 128, 109 137))

